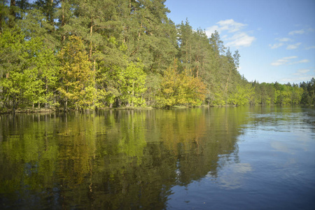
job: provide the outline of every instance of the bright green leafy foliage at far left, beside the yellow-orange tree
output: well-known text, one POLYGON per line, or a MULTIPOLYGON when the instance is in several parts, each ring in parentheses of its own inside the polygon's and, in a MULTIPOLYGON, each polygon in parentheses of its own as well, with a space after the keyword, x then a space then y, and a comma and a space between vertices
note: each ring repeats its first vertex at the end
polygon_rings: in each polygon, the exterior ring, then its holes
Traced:
POLYGON ((26 41, 22 31, 7 29, 1 34, 0 45, 3 46, 0 50, 3 55, 2 108, 52 104, 52 90, 57 80, 57 59, 52 50, 43 45, 43 38, 26 41))

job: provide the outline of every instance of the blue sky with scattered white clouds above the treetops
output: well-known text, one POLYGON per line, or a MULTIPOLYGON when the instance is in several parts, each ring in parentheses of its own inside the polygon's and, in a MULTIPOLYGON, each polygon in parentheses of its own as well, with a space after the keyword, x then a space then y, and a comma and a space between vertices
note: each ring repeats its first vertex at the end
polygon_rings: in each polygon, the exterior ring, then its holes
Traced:
POLYGON ((260 83, 315 78, 315 0, 167 0, 168 17, 239 50, 239 73, 260 83))

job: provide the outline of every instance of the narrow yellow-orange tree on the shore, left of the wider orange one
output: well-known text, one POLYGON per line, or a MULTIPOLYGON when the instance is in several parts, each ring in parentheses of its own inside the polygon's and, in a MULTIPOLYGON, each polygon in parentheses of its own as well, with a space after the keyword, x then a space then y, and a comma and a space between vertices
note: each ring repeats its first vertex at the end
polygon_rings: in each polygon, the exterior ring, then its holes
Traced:
POLYGON ((94 88, 94 71, 83 41, 78 36, 70 36, 69 42, 59 52, 59 59, 62 80, 57 90, 63 98, 65 108, 92 108, 97 93, 94 88))

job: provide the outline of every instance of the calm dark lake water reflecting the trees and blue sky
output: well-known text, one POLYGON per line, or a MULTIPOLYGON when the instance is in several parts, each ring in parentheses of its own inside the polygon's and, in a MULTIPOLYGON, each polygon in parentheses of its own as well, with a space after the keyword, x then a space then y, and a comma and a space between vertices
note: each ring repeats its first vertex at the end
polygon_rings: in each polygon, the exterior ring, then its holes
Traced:
POLYGON ((0 209, 314 209, 315 109, 0 116, 0 209))

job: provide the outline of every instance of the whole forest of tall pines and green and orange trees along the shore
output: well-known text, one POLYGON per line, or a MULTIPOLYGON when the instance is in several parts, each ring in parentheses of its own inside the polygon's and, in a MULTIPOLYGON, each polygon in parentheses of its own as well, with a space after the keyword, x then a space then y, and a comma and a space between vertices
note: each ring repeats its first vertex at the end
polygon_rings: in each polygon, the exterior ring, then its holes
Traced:
POLYGON ((0 112, 315 104, 315 79, 248 81, 165 0, 0 0, 0 112))

